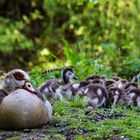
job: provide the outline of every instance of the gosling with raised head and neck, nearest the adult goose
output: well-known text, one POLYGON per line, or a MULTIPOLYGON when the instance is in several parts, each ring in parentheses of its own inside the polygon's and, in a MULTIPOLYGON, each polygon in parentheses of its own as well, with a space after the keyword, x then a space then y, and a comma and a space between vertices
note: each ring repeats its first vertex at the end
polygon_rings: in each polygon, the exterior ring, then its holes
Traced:
POLYGON ((63 79, 62 82, 60 82, 57 79, 47 80, 44 83, 42 83, 38 87, 38 89, 48 99, 62 100, 62 95, 66 91, 64 89, 66 87, 69 87, 69 84, 73 82, 72 79, 76 79, 76 76, 73 73, 73 69, 72 68, 69 68, 69 67, 68 68, 65 68, 63 70, 63 72, 62 72, 62 79, 63 79))

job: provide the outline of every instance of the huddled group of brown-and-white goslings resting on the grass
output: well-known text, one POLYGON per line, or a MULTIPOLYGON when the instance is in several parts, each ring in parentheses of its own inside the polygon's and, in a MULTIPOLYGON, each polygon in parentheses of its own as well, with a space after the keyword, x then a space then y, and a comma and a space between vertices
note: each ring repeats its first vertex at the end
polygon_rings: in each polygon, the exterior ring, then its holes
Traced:
POLYGON ((117 104, 126 106, 140 106, 140 87, 137 83, 129 82, 120 77, 107 79, 105 76, 90 75, 84 81, 73 82, 77 79, 72 68, 65 68, 62 72, 62 81, 47 80, 38 90, 47 99, 69 99, 73 96, 85 98, 89 105, 102 107, 117 104))

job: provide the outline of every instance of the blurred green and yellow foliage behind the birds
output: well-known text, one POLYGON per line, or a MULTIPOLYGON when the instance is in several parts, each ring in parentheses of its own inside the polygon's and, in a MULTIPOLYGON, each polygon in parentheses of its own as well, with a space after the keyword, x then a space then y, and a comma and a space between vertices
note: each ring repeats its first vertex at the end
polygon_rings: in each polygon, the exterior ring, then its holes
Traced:
POLYGON ((1 0, 0 55, 6 71, 73 65, 129 78, 140 70, 140 1, 1 0))

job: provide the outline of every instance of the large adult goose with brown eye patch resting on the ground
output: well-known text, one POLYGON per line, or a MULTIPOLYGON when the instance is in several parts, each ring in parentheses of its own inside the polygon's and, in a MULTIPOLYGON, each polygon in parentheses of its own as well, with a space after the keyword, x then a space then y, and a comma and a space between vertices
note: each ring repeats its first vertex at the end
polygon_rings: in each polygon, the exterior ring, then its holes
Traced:
POLYGON ((0 129, 33 128, 51 119, 52 107, 20 69, 10 71, 0 85, 0 129))

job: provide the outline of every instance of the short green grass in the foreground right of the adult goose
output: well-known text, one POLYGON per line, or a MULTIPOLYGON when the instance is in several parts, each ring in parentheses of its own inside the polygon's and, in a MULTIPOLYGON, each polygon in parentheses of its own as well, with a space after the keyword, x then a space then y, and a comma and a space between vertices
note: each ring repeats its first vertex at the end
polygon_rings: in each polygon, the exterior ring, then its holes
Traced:
MULTIPOLYGON (((76 101, 75 101, 76 102, 76 101)), ((87 108, 87 106, 71 106, 73 101, 63 104, 63 114, 56 116, 54 120, 61 123, 69 122, 65 127, 75 133, 76 139, 111 139, 120 138, 140 139, 140 116, 136 107, 125 109, 118 106, 113 109, 107 108, 87 108), (89 112, 87 114, 86 112, 89 112), (114 116, 114 117, 113 117, 114 116)), ((56 106, 62 103, 54 103, 56 106)), ((62 106, 61 106, 62 107, 62 106)))

